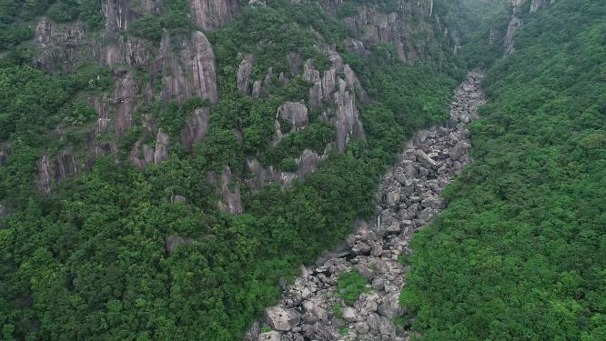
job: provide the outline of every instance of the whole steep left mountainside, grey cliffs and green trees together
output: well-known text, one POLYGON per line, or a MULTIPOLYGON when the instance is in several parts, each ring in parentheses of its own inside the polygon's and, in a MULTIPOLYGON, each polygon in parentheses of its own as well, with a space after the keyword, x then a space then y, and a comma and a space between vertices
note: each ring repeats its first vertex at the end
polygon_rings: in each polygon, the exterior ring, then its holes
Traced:
POLYGON ((239 338, 464 75, 433 1, 0 12, 5 339, 239 338))

